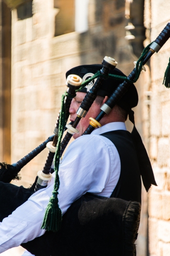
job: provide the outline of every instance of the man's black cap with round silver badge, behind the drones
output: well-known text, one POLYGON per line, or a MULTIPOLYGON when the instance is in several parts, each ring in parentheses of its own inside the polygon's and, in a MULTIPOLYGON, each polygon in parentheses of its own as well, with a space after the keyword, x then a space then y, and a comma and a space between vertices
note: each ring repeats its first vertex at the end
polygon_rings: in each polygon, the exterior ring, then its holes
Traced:
MULTIPOLYGON (((69 74, 76 74, 76 75, 79 75, 81 78, 83 78, 83 80, 86 80, 89 77, 91 77, 93 74, 95 74, 97 71, 101 70, 102 67, 103 65, 101 64, 77 66, 66 72, 66 78, 69 74)), ((115 68, 114 70, 110 70, 109 73, 126 76, 117 68, 115 68)), ((92 81, 90 85, 86 85, 81 90, 81 92, 86 93, 93 86, 95 82, 96 81, 92 81)), ((105 97, 105 96, 109 97, 117 88, 117 86, 122 82, 115 78, 110 78, 110 77, 106 78, 103 81, 102 85, 100 86, 100 89, 98 90, 97 95, 102 97, 105 97)), ((134 108, 138 105, 138 92, 134 84, 131 84, 129 86, 126 94, 117 102, 117 105, 119 105, 121 108, 127 111, 129 111, 131 108, 134 108)))

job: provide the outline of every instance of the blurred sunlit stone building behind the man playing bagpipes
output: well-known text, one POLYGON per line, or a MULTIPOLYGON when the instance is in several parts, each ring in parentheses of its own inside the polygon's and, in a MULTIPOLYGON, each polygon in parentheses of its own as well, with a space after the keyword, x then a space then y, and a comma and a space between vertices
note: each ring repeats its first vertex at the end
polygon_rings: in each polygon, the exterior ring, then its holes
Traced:
MULTIPOLYGON (((107 55, 128 75, 170 22, 169 10, 163 0, 0 0, 0 161, 16 162, 53 134, 68 69, 107 55)), ((158 183, 142 190, 137 256, 170 255, 170 91, 162 85, 169 57, 170 40, 136 83, 136 126, 158 183)), ((33 183, 47 153, 16 184, 33 183)))

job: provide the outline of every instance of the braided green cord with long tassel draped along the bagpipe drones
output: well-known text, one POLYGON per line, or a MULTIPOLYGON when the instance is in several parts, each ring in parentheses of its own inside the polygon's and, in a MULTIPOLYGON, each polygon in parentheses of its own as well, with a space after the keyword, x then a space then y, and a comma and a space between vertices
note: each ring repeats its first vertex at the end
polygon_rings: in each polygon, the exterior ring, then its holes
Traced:
MULTIPOLYGON (((81 87, 78 90, 76 90, 75 92, 82 90, 86 85, 88 85, 91 81, 93 81, 95 78, 97 78, 99 76, 102 76, 105 78, 112 77, 112 78, 116 78, 117 80, 127 81, 128 83, 135 83, 138 80, 139 74, 141 72, 144 57, 149 51, 149 46, 150 46, 150 44, 143 50, 142 55, 140 56, 140 58, 137 61, 136 76, 133 81, 129 80, 125 76, 119 76, 119 75, 114 75, 114 74, 108 74, 108 76, 105 76, 102 73, 100 73, 100 71, 98 71, 94 76, 85 80, 85 82, 83 82, 81 84, 81 87)), ((50 198, 49 204, 46 207, 45 215, 44 215, 44 219, 43 219, 42 227, 41 227, 42 229, 45 229, 48 231, 53 231, 53 232, 56 232, 60 229, 61 222, 62 222, 62 212, 58 205, 57 195, 58 195, 58 189, 59 189, 59 185, 60 185, 58 170, 59 170, 59 164, 60 164, 61 140, 62 140, 62 136, 64 133, 64 127, 66 124, 65 110, 64 110, 65 96, 70 97, 70 95, 68 95, 68 93, 65 92, 62 96, 62 106, 61 106, 60 123, 59 123, 59 136, 58 136, 58 143, 56 146, 56 152, 55 152, 55 156, 54 156, 54 170, 55 170, 54 190, 53 190, 53 195, 50 198)), ((76 96, 76 94, 75 94, 75 96, 76 96)))

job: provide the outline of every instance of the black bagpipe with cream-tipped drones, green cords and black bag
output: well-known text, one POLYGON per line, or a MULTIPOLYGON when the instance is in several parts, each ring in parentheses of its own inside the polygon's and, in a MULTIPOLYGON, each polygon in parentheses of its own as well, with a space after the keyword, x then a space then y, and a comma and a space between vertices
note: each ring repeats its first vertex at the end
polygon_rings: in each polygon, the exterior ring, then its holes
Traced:
MULTIPOLYGON (((3 212, 0 212, 0 221, 2 221, 16 207, 19 207, 24 201, 28 200, 33 193, 47 186, 48 181, 52 177, 52 164, 54 161, 54 190, 42 223, 42 228, 46 232, 42 237, 36 238, 26 244, 21 244, 33 255, 103 256, 113 255, 115 253, 115 255, 135 256, 136 247, 134 243, 138 233, 140 203, 127 201, 123 197, 118 196, 107 198, 87 193, 71 205, 62 220, 62 213, 57 198, 60 184, 58 169, 65 147, 73 134, 78 133, 76 127, 92 106, 97 97, 97 91, 103 81, 110 77, 122 81, 122 83, 120 82, 105 104, 100 108, 101 112, 96 119, 90 119, 90 124, 83 135, 91 134, 94 129, 100 127, 100 120, 110 113, 117 102, 126 94, 129 87, 138 80, 141 71, 145 70, 144 64, 155 52, 161 49, 169 38, 170 23, 165 26, 156 40, 144 49, 141 57, 135 63, 135 68, 127 77, 110 73, 117 66, 117 62, 111 57, 105 57, 102 61, 102 69, 83 83, 82 78, 78 75, 69 75, 66 80, 68 89, 62 96, 62 106, 55 123, 54 135, 18 162, 12 165, 0 163, 0 186, 3 191, 7 191, 4 192, 6 193, 5 203, 2 196, 0 199, 0 204, 4 206, 3 212), (69 117, 69 107, 76 92, 94 80, 96 80, 95 84, 86 93, 84 100, 77 110, 76 119, 74 122, 66 124, 69 117), (62 141, 65 129, 67 129, 67 133, 62 141), (21 168, 38 155, 45 146, 49 149, 49 153, 43 170, 38 172, 38 177, 32 187, 26 189, 22 186, 17 187, 9 184, 12 179, 20 179, 19 172, 21 168), (17 196, 17 198, 13 198, 13 204, 9 207, 6 202, 8 202, 8 196, 12 198, 13 195, 17 196), (97 209, 97 214, 95 218, 92 218, 94 211, 96 211, 95 209, 97 209), (53 214, 57 216, 56 221, 53 214), (51 219, 54 219, 54 221, 51 221, 51 219)), ((166 87, 169 87, 170 67, 166 70, 164 82, 166 87)), ((156 185, 156 182, 146 149, 135 127, 133 111, 129 111, 128 114, 130 121, 134 123, 132 135, 137 149, 140 173, 144 186, 148 191, 151 184, 156 185)))

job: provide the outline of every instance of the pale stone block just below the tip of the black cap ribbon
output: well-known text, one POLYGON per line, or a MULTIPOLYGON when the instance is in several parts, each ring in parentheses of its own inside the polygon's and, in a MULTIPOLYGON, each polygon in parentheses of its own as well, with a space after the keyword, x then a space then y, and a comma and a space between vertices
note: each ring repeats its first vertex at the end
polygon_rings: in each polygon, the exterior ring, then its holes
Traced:
POLYGON ((160 192, 150 191, 148 196, 149 217, 162 219, 162 195, 160 192))

